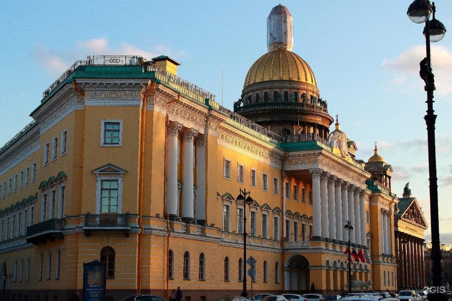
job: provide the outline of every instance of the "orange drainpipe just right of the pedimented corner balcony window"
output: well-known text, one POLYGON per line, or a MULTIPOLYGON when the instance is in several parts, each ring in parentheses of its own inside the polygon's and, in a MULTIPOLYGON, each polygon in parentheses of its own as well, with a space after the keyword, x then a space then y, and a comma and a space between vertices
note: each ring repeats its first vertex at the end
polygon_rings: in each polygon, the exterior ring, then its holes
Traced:
POLYGON ((140 162, 139 162, 139 181, 138 181, 138 226, 140 227, 140 233, 138 234, 138 269, 137 269, 137 292, 141 294, 141 244, 144 235, 144 227, 142 221, 143 214, 143 177, 144 177, 144 138, 145 138, 145 120, 146 120, 146 98, 155 90, 155 83, 152 83, 151 80, 148 82, 149 90, 146 91, 146 94, 142 98, 142 106, 141 106, 141 125, 140 125, 140 162))

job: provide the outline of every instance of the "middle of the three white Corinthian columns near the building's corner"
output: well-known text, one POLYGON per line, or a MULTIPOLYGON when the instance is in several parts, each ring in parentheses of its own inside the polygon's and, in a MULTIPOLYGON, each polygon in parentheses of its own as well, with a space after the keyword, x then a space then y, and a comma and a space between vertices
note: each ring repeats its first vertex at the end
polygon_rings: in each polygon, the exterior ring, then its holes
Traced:
POLYGON ((192 222, 194 219, 193 204, 193 141, 198 131, 190 128, 184 133, 184 164, 182 171, 182 220, 192 222))

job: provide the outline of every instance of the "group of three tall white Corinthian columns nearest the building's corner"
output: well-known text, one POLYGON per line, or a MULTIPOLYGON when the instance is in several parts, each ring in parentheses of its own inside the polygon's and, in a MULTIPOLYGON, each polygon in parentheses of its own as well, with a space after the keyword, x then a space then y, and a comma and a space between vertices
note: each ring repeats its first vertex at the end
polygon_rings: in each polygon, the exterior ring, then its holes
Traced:
POLYGON ((206 180, 206 139, 205 134, 199 134, 193 128, 182 130, 182 124, 172 121, 166 128, 167 161, 166 161, 166 211, 171 220, 179 219, 179 196, 177 187, 178 174, 178 135, 182 133, 182 212, 184 222, 205 222, 205 180, 206 180), (195 139, 196 138, 196 139, 195 139), (196 195, 193 194, 194 178, 194 143, 196 141, 196 195), (196 199, 196 202, 195 202, 196 199), (196 216, 195 216, 196 215, 196 216))

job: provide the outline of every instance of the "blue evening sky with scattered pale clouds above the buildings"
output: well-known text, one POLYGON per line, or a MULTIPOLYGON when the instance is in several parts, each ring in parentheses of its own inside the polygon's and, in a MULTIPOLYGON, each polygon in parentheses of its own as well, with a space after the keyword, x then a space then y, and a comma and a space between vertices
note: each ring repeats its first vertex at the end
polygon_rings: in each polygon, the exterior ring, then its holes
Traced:
MULTIPOLYGON (((250 66, 267 51, 273 6, 293 17, 294 48, 315 73, 320 96, 367 161, 374 142, 391 164, 392 192, 410 182, 430 223, 426 93, 419 78, 424 25, 399 1, 2 1, 0 4, 0 145, 32 119, 48 88, 87 55, 166 55, 178 75, 232 109, 250 66), (221 100, 223 64, 223 100, 221 100)), ((452 244, 452 1, 437 0, 447 32, 432 44, 440 239, 452 244)), ((331 129, 333 129, 333 126, 331 129)), ((430 229, 425 232, 430 238, 430 229)))

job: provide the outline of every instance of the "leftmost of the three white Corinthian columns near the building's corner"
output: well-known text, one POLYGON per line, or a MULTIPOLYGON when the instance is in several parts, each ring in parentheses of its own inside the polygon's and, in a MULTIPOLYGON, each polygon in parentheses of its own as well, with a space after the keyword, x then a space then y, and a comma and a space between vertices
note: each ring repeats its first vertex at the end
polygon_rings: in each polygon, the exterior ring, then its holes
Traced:
POLYGON ((166 212, 171 220, 177 216, 177 136, 182 129, 182 124, 171 121, 166 127, 167 134, 167 159, 166 159, 166 212))

